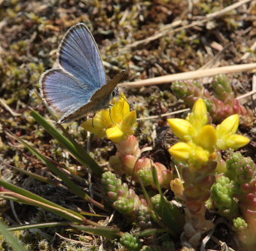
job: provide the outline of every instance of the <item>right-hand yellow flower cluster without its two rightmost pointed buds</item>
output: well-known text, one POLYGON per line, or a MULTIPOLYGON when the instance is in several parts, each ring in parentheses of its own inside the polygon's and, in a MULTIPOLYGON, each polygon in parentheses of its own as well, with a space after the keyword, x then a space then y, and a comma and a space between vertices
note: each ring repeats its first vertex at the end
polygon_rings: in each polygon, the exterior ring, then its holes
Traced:
POLYGON ((202 98, 196 101, 186 119, 168 119, 172 132, 186 142, 179 142, 169 149, 174 159, 189 162, 195 168, 208 162, 217 141, 214 127, 206 125, 208 121, 206 103, 202 98))

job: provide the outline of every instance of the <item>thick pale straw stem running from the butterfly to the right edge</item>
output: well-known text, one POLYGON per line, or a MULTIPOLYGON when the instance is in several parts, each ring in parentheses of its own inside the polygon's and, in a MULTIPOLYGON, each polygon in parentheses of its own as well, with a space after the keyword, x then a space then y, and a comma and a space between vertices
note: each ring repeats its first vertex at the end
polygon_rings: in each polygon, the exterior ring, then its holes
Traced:
POLYGON ((256 69, 256 63, 242 64, 242 65, 229 65, 229 66, 223 66, 223 67, 217 67, 217 68, 211 68, 211 69, 188 71, 188 72, 182 72, 177 74, 169 74, 166 76, 149 78, 147 80, 137 80, 130 83, 129 82, 120 83, 118 86, 131 87, 131 88, 142 87, 142 86, 152 86, 155 84, 170 83, 172 81, 177 81, 177 80, 193 80, 196 78, 211 77, 218 74, 230 74, 230 73, 237 73, 241 71, 251 71, 253 69, 256 69))

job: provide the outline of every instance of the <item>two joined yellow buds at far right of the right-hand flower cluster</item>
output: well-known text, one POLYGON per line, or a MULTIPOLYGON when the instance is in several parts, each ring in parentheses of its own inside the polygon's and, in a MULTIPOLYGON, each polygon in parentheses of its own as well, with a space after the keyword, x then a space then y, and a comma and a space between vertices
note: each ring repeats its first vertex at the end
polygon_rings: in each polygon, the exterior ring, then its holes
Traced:
POLYGON ((216 146, 220 150, 227 150, 233 148, 234 150, 244 147, 249 143, 249 139, 237 135, 236 131, 239 126, 239 115, 234 114, 224 119, 220 125, 216 127, 217 143, 216 146))

